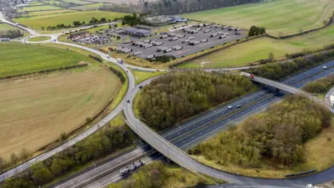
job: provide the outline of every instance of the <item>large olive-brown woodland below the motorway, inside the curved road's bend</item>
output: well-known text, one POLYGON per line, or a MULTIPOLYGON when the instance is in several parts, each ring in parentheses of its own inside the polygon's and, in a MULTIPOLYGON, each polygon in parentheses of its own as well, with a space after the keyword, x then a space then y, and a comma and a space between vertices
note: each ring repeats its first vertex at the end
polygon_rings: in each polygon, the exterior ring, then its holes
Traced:
POLYGON ((243 168, 260 168, 266 159, 280 168, 294 166, 305 159, 303 143, 329 127, 332 117, 320 104, 289 95, 189 153, 243 168))

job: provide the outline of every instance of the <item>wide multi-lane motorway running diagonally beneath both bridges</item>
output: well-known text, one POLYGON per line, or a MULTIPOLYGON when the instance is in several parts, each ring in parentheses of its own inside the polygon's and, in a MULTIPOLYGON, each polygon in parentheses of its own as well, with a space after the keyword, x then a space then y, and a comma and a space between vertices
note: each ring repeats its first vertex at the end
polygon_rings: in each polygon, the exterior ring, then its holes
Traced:
MULTIPOLYGON (((333 61, 328 62, 326 65, 333 67, 334 63, 333 61)), ((313 81, 315 79, 319 79, 320 77, 331 74, 333 69, 322 72, 321 74, 315 76, 321 71, 322 65, 319 65, 317 68, 312 68, 311 70, 303 72, 302 74, 290 77, 289 79, 284 80, 283 83, 301 87, 307 81, 313 81)), ((144 81, 140 85, 143 86, 145 84, 149 84, 149 82, 150 80, 144 81)), ((138 88, 136 88, 136 90, 138 91, 138 88)), ((234 121, 239 120, 240 118, 246 118, 246 116, 250 115, 254 111, 267 107, 267 105, 271 104, 272 102, 280 100, 282 93, 275 94, 269 92, 269 90, 270 89, 260 90, 248 95, 244 95, 241 98, 230 102, 229 104, 217 107, 212 111, 207 111, 206 113, 203 113, 202 115, 193 118, 186 123, 175 127, 173 130, 169 130, 168 132, 165 132, 161 135, 175 146, 182 148, 182 150, 187 150, 196 143, 199 143, 200 140, 206 139, 207 137, 212 136, 212 134, 218 132, 218 130, 224 129, 230 123, 234 123, 234 121), (237 104, 241 104, 245 108, 234 109, 232 111, 227 109, 228 105, 235 107, 237 104), (252 105, 246 107, 248 104, 252 105)), ((126 165, 129 166, 134 159, 138 159, 138 157, 143 155, 143 151, 148 153, 152 152, 152 149, 150 149, 149 146, 143 146, 138 150, 134 150, 126 155, 123 155, 120 157, 121 159, 115 159, 101 166, 97 166, 92 169, 92 171, 83 173, 82 175, 75 178, 70 178, 70 180, 62 182, 60 185, 56 185, 56 187, 104 187, 105 185, 108 185, 121 178, 117 170, 120 169, 120 167, 125 167, 125 165, 120 166, 120 161, 127 161, 128 163, 126 165), (96 178, 97 180, 95 180, 96 178)), ((158 159, 159 157, 162 157, 162 155, 154 153, 148 157, 143 157, 141 160, 143 162, 150 162, 152 159, 158 159)), ((326 175, 321 177, 323 177, 322 180, 331 179, 331 176, 329 178, 326 178, 326 175)), ((225 176, 223 176, 223 178, 225 178, 225 176)), ((241 178, 241 180, 243 179, 241 178)), ((273 183, 276 185, 276 182, 273 183)), ((287 182, 286 184, 291 185, 291 182, 287 182)), ((305 185, 305 181, 300 182, 299 185, 303 187, 305 185)))

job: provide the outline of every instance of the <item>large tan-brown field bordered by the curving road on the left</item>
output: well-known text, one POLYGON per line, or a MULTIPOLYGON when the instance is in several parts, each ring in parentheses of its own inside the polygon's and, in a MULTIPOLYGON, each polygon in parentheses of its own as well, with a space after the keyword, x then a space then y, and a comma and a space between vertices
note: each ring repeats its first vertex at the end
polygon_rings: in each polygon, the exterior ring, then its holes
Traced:
POLYGON ((93 118, 116 94, 118 77, 98 65, 0 81, 0 156, 30 151, 93 118))

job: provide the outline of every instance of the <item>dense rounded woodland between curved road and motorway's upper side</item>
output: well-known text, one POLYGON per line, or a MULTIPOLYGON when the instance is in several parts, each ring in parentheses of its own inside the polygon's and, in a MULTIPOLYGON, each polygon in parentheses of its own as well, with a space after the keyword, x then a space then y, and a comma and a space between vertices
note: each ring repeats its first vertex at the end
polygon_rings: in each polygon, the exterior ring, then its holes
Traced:
POLYGON ((200 70, 170 72, 143 88, 136 108, 147 125, 154 130, 164 130, 252 89, 250 80, 239 75, 200 70))

